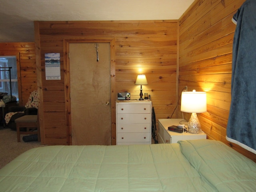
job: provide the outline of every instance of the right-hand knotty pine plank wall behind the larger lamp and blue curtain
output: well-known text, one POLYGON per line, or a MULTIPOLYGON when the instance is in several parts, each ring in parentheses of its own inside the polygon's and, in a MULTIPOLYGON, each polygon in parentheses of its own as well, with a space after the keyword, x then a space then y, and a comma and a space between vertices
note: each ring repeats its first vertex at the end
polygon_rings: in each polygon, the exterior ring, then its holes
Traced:
MULTIPOLYGON (((231 19, 244 0, 196 0, 179 20, 179 94, 207 92, 207 112, 198 114, 208 139, 220 140, 256 161, 256 155, 226 140, 231 100, 231 19)), ((180 109, 180 106, 179 106, 180 109)), ((178 116, 182 118, 179 110, 178 116)), ((188 120, 190 114, 185 114, 188 120)))

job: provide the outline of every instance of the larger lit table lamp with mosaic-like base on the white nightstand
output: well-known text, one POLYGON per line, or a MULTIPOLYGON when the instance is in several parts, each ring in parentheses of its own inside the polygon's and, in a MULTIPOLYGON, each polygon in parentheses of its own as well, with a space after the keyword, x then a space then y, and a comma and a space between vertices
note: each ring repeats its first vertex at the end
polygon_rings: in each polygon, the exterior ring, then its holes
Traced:
POLYGON ((184 91, 181 93, 180 110, 187 113, 192 113, 188 121, 188 132, 197 134, 201 131, 201 125, 196 113, 207 111, 206 107, 206 92, 184 91))

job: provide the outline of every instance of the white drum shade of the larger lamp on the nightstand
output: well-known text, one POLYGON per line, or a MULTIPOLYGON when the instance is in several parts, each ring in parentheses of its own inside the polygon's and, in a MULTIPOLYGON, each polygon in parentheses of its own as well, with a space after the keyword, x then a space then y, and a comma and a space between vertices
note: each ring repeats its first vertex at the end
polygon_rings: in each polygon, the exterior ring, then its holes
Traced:
POLYGON ((187 113, 206 112, 206 92, 182 92, 180 110, 187 113))

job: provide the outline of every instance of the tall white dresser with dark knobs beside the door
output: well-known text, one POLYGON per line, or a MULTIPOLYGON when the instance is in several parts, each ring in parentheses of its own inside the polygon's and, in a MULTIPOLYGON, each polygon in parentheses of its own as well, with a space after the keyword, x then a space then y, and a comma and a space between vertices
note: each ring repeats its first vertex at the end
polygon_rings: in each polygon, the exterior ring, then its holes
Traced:
POLYGON ((151 144, 152 102, 116 102, 116 144, 151 144))

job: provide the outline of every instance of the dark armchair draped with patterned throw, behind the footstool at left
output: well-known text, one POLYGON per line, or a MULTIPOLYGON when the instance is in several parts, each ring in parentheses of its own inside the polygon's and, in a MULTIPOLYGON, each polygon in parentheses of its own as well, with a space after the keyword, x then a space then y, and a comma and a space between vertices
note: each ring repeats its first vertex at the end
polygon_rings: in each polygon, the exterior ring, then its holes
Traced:
POLYGON ((28 98, 25 106, 10 106, 8 113, 5 115, 6 126, 10 129, 16 130, 15 120, 24 115, 37 115, 38 110, 38 93, 33 91, 28 98))

